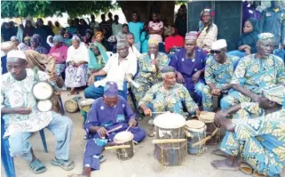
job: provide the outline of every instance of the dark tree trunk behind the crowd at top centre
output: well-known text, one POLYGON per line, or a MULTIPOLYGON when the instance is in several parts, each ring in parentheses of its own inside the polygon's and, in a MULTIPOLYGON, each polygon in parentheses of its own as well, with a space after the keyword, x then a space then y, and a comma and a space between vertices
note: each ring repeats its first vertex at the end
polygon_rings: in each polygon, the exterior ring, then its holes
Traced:
POLYGON ((174 1, 117 1, 117 3, 121 6, 127 21, 131 21, 132 12, 138 12, 139 20, 143 22, 151 20, 152 12, 158 12, 163 22, 174 24, 174 1))

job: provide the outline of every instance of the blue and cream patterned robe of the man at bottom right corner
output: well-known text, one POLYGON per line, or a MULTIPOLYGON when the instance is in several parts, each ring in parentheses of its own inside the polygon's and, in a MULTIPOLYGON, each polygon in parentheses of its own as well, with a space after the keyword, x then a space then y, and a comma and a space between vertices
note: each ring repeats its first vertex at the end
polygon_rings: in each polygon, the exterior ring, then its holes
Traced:
POLYGON ((265 115, 258 103, 241 103, 234 132, 226 132, 220 149, 241 155, 257 173, 277 176, 285 165, 285 109, 265 115))

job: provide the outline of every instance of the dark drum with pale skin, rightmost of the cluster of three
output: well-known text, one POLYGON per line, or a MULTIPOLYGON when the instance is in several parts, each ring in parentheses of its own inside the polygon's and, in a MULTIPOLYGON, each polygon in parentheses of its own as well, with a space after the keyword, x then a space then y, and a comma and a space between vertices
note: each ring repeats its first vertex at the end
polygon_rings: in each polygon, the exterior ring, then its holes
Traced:
POLYGON ((206 142, 206 145, 216 145, 220 141, 220 131, 218 130, 218 126, 215 124, 215 113, 214 112, 206 112, 202 111, 199 120, 207 125, 207 135, 211 136, 210 140, 206 142), (218 130, 218 131, 216 131, 218 130))

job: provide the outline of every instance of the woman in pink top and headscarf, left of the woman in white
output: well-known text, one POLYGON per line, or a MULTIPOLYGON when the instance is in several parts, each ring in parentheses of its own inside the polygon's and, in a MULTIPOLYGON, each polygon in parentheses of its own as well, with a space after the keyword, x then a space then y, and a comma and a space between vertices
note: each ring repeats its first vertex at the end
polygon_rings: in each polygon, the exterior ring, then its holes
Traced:
POLYGON ((55 69, 57 71, 58 76, 61 76, 61 74, 66 68, 68 47, 63 44, 62 36, 53 36, 52 43, 54 45, 51 47, 49 55, 55 58, 55 69))

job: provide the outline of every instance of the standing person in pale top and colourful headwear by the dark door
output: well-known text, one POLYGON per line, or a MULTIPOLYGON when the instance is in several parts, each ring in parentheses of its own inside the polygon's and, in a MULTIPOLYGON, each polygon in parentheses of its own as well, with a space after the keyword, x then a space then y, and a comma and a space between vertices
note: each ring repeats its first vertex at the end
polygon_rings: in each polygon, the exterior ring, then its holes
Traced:
POLYGON ((218 27, 213 23, 214 14, 211 9, 204 9, 199 21, 197 46, 206 52, 210 52, 211 44, 217 41, 218 27))

